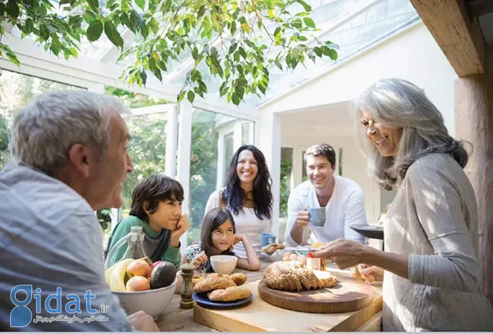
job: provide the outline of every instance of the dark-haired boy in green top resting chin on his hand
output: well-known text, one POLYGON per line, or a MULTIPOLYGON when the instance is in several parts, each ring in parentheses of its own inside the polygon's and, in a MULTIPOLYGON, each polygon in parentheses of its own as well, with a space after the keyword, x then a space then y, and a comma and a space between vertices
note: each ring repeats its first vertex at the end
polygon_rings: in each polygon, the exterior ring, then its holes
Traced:
MULTIPOLYGON (((114 229, 108 242, 108 253, 112 246, 130 233, 132 226, 141 226, 144 231, 144 251, 151 260, 168 261, 180 265, 179 238, 188 229, 186 215, 181 215, 184 190, 181 184, 166 175, 152 175, 143 179, 132 192, 130 214, 114 229)), ((121 247, 112 263, 120 261, 127 251, 121 247)))

